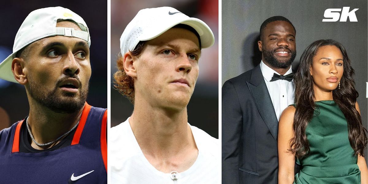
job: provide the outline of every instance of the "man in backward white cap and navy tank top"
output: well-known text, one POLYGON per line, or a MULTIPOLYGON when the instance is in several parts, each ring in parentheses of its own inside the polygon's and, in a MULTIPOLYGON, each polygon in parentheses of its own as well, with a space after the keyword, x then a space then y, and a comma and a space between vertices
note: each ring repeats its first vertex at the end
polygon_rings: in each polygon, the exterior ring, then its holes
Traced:
POLYGON ((0 132, 1 183, 107 183, 107 110, 86 103, 85 21, 63 7, 32 11, 0 64, 25 86, 29 116, 0 132))

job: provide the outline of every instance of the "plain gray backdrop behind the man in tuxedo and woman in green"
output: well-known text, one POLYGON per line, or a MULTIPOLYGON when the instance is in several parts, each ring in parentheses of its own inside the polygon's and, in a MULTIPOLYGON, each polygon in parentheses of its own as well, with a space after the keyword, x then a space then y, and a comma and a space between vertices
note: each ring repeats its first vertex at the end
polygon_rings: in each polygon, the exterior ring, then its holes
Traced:
MULTIPOLYGON (((222 1, 222 84, 261 62, 258 50, 259 27, 267 18, 282 15, 296 28, 296 68, 304 49, 319 39, 334 39, 347 50, 355 70, 355 88, 362 123, 367 128, 367 0, 231 0, 222 1), (357 22, 322 22, 329 8, 350 7, 357 22)), ((366 151, 367 152, 367 151, 366 151)), ((366 159, 367 160, 367 159, 366 159)))

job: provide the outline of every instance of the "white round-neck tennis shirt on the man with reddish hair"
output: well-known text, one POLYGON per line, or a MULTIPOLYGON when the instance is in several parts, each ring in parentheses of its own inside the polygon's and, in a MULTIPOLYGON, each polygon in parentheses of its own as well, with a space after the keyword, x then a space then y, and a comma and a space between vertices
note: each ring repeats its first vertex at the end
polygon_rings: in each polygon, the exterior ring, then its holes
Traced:
POLYGON ((198 157, 181 173, 163 173, 153 167, 142 153, 129 124, 129 118, 111 128, 110 155, 112 184, 213 184, 220 183, 219 140, 190 125, 198 157), (175 179, 177 178, 177 179, 175 179))

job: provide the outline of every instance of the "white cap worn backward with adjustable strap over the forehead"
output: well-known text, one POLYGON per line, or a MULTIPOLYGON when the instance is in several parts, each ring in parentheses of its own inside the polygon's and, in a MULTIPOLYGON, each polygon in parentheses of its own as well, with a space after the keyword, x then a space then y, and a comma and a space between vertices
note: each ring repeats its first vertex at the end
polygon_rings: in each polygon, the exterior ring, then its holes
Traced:
POLYGON ((15 35, 13 54, 10 54, 0 63, 0 78, 17 82, 11 71, 11 63, 17 52, 37 40, 57 35, 80 38, 88 42, 88 46, 91 46, 91 38, 86 22, 71 10, 63 7, 49 7, 32 11, 25 18, 17 35, 15 35), (57 20, 74 21, 82 31, 74 30, 74 28, 56 27, 57 20))

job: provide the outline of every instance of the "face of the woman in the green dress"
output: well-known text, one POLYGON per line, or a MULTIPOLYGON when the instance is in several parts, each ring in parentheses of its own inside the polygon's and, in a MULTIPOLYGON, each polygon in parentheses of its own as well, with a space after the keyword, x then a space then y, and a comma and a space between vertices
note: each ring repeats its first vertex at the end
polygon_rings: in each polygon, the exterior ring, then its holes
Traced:
POLYGON ((319 47, 313 57, 310 71, 315 90, 328 92, 336 89, 344 73, 343 56, 340 49, 331 45, 319 47), (338 78, 337 82, 327 81, 327 78, 332 76, 338 78))

